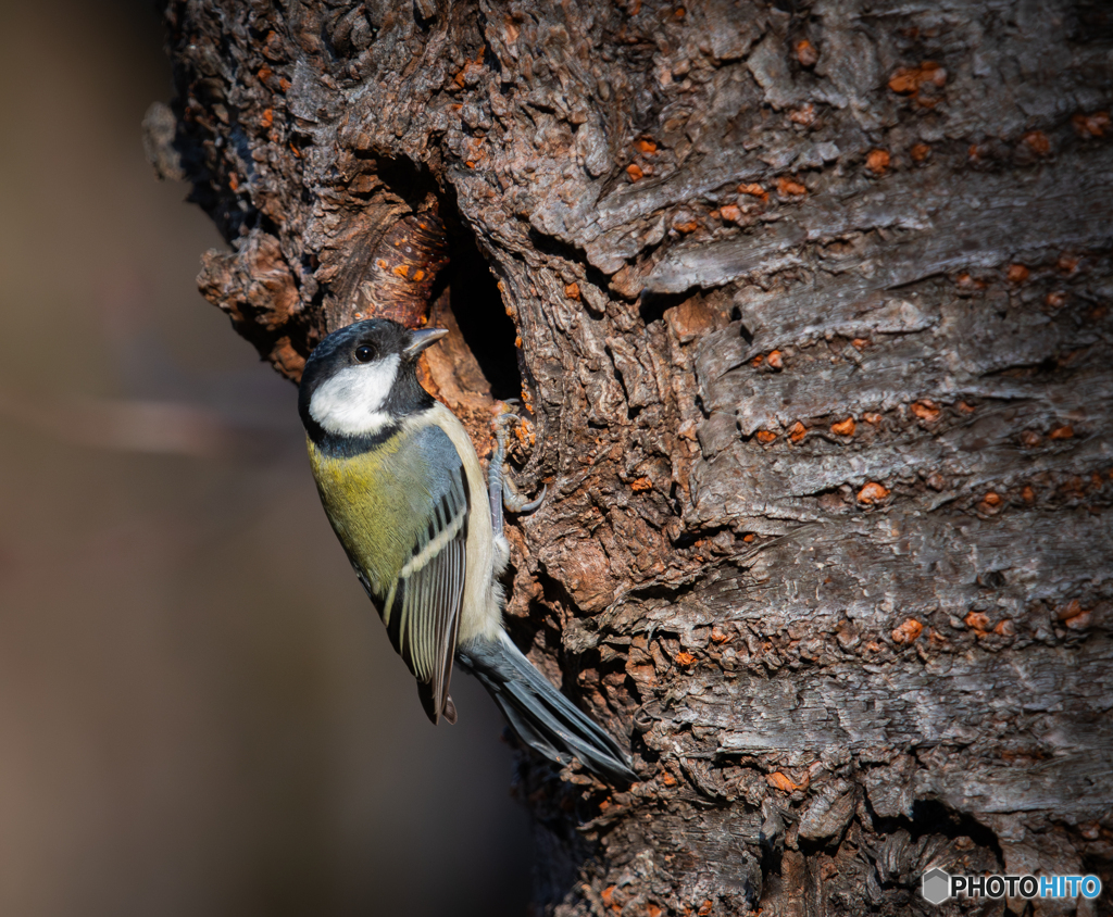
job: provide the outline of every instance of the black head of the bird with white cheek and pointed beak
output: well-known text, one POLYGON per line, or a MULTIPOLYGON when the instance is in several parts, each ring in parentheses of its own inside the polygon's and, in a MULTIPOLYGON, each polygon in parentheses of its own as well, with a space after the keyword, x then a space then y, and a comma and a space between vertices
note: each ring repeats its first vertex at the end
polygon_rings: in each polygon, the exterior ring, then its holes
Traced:
POLYGON ((368 318, 333 332, 309 355, 298 412, 311 434, 374 436, 433 400, 417 382, 422 351, 444 328, 410 331, 388 318, 368 318))

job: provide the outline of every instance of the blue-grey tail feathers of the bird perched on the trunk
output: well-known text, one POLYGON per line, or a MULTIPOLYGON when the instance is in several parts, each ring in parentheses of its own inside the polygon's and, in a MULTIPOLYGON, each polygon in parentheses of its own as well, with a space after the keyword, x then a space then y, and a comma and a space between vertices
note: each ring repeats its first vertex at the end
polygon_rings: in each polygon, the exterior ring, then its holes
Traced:
POLYGON ((550 761, 579 758, 611 783, 638 779, 618 742, 553 688, 505 633, 461 647, 456 659, 487 689, 518 737, 550 761))

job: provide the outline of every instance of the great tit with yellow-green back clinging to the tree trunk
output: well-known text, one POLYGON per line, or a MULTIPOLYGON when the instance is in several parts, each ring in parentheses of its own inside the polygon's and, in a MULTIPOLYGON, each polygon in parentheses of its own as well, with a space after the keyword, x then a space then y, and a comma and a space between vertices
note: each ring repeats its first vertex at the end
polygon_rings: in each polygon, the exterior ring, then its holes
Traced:
POLYGON ((503 629, 505 436, 491 458, 489 510, 467 433, 417 382, 417 357, 445 334, 371 318, 328 335, 306 361, 298 412, 325 513, 433 723, 456 720, 455 658, 525 745, 633 782, 626 752, 503 629))

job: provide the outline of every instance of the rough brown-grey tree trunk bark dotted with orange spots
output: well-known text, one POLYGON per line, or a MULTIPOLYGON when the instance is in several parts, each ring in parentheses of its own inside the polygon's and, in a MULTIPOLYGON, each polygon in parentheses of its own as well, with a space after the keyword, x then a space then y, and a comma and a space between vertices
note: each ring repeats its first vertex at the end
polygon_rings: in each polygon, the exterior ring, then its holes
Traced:
POLYGON ((200 286, 236 329, 296 379, 328 331, 432 308, 481 444, 492 395, 532 410, 510 628, 643 778, 523 762, 545 913, 1110 884, 1105 4, 166 19, 150 152, 232 244, 200 286))

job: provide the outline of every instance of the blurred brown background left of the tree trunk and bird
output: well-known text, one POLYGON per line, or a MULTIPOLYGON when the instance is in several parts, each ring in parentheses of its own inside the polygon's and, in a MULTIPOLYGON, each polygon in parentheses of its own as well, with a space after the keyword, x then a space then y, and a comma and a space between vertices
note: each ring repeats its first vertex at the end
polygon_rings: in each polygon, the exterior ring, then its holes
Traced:
POLYGON ((294 386, 197 293, 151 4, 0 11, 0 914, 524 914, 494 704, 426 721, 294 386))

